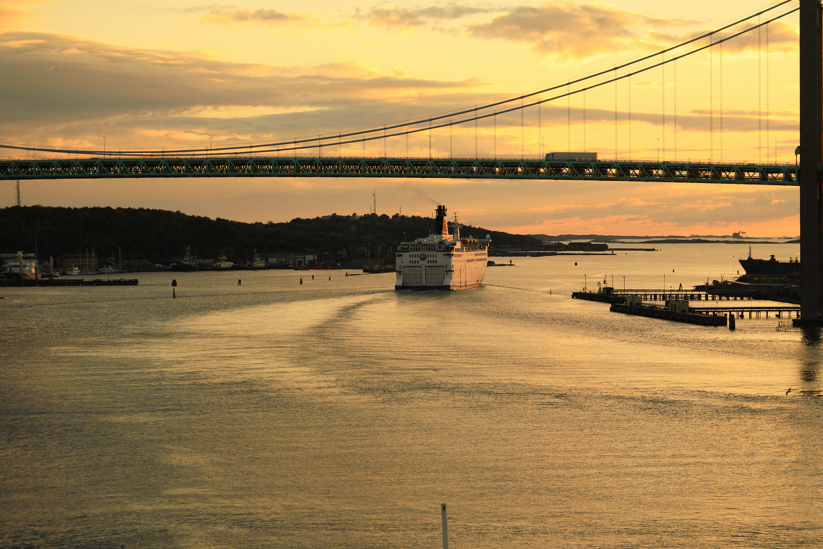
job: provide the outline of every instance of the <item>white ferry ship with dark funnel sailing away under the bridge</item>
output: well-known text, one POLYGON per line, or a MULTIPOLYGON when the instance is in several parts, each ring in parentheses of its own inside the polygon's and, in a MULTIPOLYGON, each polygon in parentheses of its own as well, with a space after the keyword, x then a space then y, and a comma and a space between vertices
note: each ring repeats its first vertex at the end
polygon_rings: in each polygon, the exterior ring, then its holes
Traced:
POLYGON ((437 207, 435 230, 426 238, 398 246, 395 290, 468 290, 486 276, 491 235, 460 238, 455 219, 449 234, 446 207, 437 207))

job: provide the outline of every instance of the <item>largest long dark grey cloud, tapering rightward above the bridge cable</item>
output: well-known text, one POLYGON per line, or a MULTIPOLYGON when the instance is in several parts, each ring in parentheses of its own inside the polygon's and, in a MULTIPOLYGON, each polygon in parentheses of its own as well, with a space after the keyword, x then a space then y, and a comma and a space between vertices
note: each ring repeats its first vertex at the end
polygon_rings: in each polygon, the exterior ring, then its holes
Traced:
POLYGON ((228 63, 43 33, 0 35, 0 72, 4 142, 82 143, 113 128, 121 142, 167 147, 204 131, 258 141, 379 125, 465 105, 486 85, 359 63, 228 63))

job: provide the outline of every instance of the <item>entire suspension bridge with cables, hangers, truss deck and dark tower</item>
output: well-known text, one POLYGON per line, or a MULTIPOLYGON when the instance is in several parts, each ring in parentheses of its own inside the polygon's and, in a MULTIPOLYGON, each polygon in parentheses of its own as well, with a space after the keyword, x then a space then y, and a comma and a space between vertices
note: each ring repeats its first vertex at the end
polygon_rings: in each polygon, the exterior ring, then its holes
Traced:
MULTIPOLYGON (((823 19, 821 4, 817 0, 786 0, 776 2, 760 12, 749 14, 718 29, 713 29, 690 37, 652 54, 632 59, 626 63, 604 69, 573 81, 532 91, 528 94, 510 96, 467 109, 411 119, 379 127, 352 130, 334 134, 319 134, 291 140, 236 143, 220 147, 139 149, 106 151, 95 149, 69 149, 65 147, 35 147, 13 143, 0 143, 0 151, 12 154, 38 154, 47 158, 12 157, 0 158, 0 180, 10 179, 126 179, 126 178, 174 178, 174 177, 321 177, 321 178, 416 178, 416 179, 546 179, 546 180, 597 180, 597 181, 656 181, 710 184, 760 184, 798 186, 800 188, 800 222, 802 255, 802 323, 823 325, 823 19), (798 5, 799 4, 799 5, 798 5), (675 97, 677 105, 677 61, 700 52, 709 54, 709 81, 714 78, 714 51, 719 49, 721 58, 723 43, 738 36, 757 31, 760 48, 760 31, 766 29, 768 63, 768 26, 770 23, 799 12, 800 20, 800 146, 799 163, 779 164, 775 161, 723 162, 715 158, 719 152, 722 158, 723 108, 718 112, 720 147, 714 147, 714 99, 709 98, 709 151, 705 161, 631 160, 618 158, 617 134, 617 82, 629 81, 631 77, 652 69, 665 71, 674 68, 675 97), (571 126, 570 98, 583 95, 586 91, 615 86, 615 155, 613 160, 593 160, 575 158, 571 153, 569 132, 568 160, 543 157, 542 142, 537 158, 527 157, 523 145, 523 112, 537 108, 538 135, 540 133, 541 105, 553 102, 557 105, 566 101, 569 110, 568 127, 571 126), (498 117, 520 114, 521 155, 519 158, 498 157, 497 124, 498 117), (481 157, 477 154, 478 121, 493 120, 495 128, 495 154, 481 157), (453 156, 449 137, 449 156, 409 156, 410 135, 431 135, 435 130, 449 131, 455 127, 467 128, 473 123, 475 129, 475 155, 472 157, 453 156), (389 139, 405 137, 407 155, 388 155, 386 143, 389 139), (383 156, 365 156, 366 142, 384 144, 383 156), (362 156, 338 154, 328 155, 330 147, 361 145, 362 156), (323 155, 323 147, 327 154, 323 155), (316 150, 317 154, 312 154, 316 150)), ((760 57, 760 49, 758 50, 760 57)), ((767 75, 768 75, 768 64, 767 75)), ((760 71, 760 61, 758 61, 760 71)), ((768 76, 767 76, 768 81, 768 76)), ((760 75, 758 76, 758 115, 760 109, 760 75)), ((629 88, 630 89, 630 88, 629 88)), ((710 86, 711 90, 714 87, 710 86)), ((666 86, 663 81, 663 105, 666 86)), ((768 88, 767 88, 768 97, 768 88)), ((722 105, 722 100, 721 100, 722 105)), ((530 111, 531 112, 531 111, 530 111)), ((769 142, 768 100, 766 109, 766 142, 769 142)), ((666 127, 666 109, 662 109, 662 124, 666 127)), ((629 116, 631 110, 629 109, 629 116)), ((677 156, 677 106, 673 113, 674 157, 677 156)), ((631 151, 631 123, 629 123, 628 149, 631 151)), ((585 144, 585 106, 584 106, 585 144)), ((663 151, 666 155, 665 133, 663 151)), ((761 147, 760 122, 758 127, 758 151, 761 147)), ((768 147, 766 147, 768 149, 768 147)), ((332 148, 333 150, 333 148, 332 148)), ((585 145, 584 145, 585 150, 585 145)), ((768 157, 768 155, 767 155, 768 157)))

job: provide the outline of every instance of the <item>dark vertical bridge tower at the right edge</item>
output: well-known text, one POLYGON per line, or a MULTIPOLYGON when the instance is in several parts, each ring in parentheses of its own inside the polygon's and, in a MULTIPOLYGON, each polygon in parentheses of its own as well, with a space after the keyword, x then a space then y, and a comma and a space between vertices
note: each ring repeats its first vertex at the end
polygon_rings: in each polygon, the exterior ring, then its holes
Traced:
POLYGON ((800 323, 819 323, 823 320, 821 27, 823 19, 819 0, 800 0, 800 323))

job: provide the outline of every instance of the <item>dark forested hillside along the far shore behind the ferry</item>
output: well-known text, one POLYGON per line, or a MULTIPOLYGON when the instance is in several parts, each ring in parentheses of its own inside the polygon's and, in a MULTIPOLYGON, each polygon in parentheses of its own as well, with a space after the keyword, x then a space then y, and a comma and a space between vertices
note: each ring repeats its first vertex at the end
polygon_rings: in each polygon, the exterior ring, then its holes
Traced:
MULTIPOLYGON (((398 215, 242 223, 144 208, 6 207, 0 210, 0 251, 34 252, 36 235, 40 258, 85 253, 86 249, 109 257, 122 249, 123 258, 160 262, 184 254, 188 245, 192 254, 202 258, 216 258, 222 252, 235 262, 250 258, 253 249, 259 254, 346 250, 353 257, 360 255, 360 248, 374 254, 378 242, 382 251, 392 249, 404 233, 406 240, 426 236, 434 225, 429 217, 398 215)), ((463 235, 491 234, 496 245, 539 244, 528 236, 495 230, 464 227, 462 231, 463 235)))

